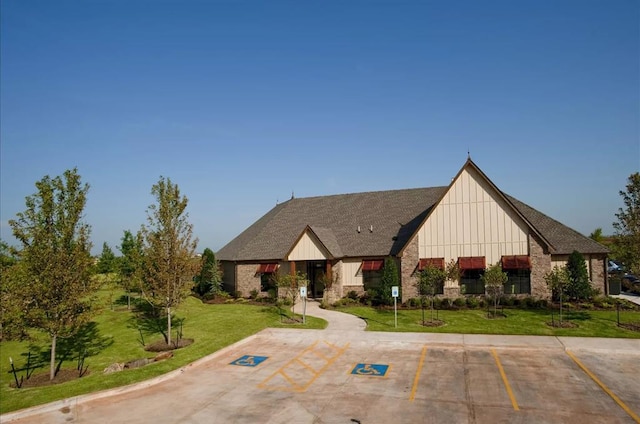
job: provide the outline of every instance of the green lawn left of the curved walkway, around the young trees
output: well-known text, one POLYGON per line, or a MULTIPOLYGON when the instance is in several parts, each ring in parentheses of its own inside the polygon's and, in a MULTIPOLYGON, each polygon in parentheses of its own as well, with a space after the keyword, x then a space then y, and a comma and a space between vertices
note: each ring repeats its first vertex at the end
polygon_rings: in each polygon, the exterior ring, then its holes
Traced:
MULTIPOLYGON (((118 292, 114 295, 113 291, 104 291, 101 295, 105 303, 109 304, 116 298, 115 296, 121 294, 118 292)), ((30 346, 31 352, 35 352, 34 348, 48 352, 50 341, 46 337, 42 334, 34 334, 37 339, 32 342, 0 342, 0 413, 156 377, 207 356, 267 327, 318 329, 327 325, 326 321, 314 317, 307 317, 304 325, 284 324, 275 307, 236 303, 204 304, 193 297, 188 298, 176 310, 176 316, 185 318, 184 337, 194 339, 192 345, 175 350, 174 357, 169 360, 149 364, 143 368, 105 375, 102 371, 115 362, 149 358, 155 354, 146 352, 138 341, 139 333, 135 327, 130 325, 131 312, 126 310, 126 305, 125 307, 118 306, 118 310, 111 310, 110 307, 104 308, 94 320, 98 331, 94 341, 102 341, 107 346, 95 356, 86 358, 85 366, 89 367, 89 373, 80 379, 48 387, 21 389, 9 387, 9 384, 14 381, 10 371, 9 358, 13 358, 16 368, 24 367, 30 346)), ((160 339, 160 335, 145 336, 146 343, 160 339)), ((76 363, 76 361, 65 362, 63 368, 75 369, 76 363)), ((35 373, 48 372, 48 369, 47 363, 35 373)), ((20 372, 18 378, 20 375, 25 375, 25 372, 20 372)))

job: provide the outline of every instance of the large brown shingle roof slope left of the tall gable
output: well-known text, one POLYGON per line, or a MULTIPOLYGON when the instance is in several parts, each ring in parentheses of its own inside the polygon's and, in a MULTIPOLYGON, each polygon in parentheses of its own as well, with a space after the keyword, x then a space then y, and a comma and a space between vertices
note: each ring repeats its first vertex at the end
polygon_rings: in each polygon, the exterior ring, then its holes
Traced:
POLYGON ((335 257, 395 255, 417 230, 419 217, 424 218, 446 190, 433 187, 291 199, 270 210, 216 256, 232 261, 283 259, 307 226, 335 257))

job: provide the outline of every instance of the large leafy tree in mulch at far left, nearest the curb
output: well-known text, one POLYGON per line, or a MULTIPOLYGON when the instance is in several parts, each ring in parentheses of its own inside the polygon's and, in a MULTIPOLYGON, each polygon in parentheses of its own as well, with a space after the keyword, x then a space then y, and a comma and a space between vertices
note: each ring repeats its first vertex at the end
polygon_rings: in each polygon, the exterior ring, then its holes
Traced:
POLYGON ((25 319, 51 337, 49 378, 55 377, 56 342, 73 336, 91 317, 97 292, 90 278, 90 227, 82 221, 88 184, 77 169, 62 177, 45 176, 27 209, 9 225, 22 244, 20 296, 27 299, 25 319))

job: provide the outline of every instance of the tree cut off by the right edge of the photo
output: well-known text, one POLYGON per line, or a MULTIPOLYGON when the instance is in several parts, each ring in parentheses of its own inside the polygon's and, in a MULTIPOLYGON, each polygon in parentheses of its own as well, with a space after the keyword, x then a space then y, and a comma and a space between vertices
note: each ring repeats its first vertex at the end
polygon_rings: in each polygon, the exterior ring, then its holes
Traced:
POLYGON ((640 173, 629 176, 626 191, 620 191, 624 208, 613 223, 614 257, 633 273, 640 273, 640 173))

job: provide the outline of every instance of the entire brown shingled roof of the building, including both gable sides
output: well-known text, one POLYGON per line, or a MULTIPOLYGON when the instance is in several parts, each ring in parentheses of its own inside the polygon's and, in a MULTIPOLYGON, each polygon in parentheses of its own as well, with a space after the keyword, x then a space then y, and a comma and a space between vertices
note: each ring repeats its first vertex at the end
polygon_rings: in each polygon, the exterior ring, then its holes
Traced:
MULTIPOLYGON (((601 244, 500 191, 471 159, 456 178, 466 167, 479 172, 552 253, 608 252, 601 244)), ((308 230, 334 258, 395 256, 426 221, 449 187, 291 199, 267 212, 216 256, 227 261, 285 260, 301 234, 308 230)))

